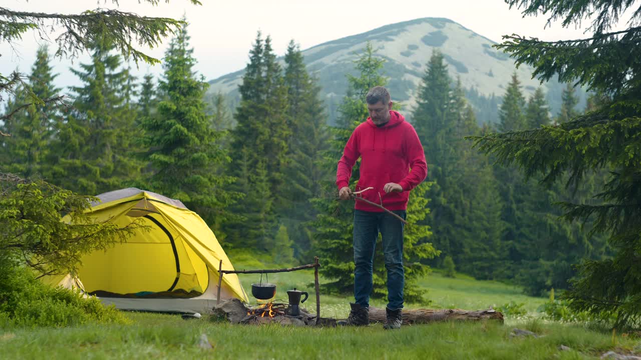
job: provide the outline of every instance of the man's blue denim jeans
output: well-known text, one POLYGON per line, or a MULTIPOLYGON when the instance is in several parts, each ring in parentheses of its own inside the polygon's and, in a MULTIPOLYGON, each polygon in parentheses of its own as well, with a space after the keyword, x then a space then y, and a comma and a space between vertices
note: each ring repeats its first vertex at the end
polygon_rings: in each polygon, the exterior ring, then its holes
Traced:
MULTIPOLYGON (((393 211, 406 218, 406 211, 393 211)), ((378 233, 383 237, 383 255, 387 268, 387 307, 403 307, 403 222, 388 213, 354 210, 354 298, 356 304, 369 307, 372 293, 372 263, 378 233)))

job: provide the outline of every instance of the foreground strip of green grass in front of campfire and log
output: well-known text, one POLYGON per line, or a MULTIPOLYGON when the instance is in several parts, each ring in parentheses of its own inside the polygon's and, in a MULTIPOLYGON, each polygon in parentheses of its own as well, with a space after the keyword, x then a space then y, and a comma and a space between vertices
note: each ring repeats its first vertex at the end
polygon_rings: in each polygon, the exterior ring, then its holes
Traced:
MULTIPOLYGON (((582 327, 538 324, 541 338, 511 338, 494 323, 435 323, 384 331, 229 325, 176 315, 129 313, 134 325, 0 332, 3 359, 590 359, 635 341, 582 327), (206 334, 213 349, 198 346, 206 334), (566 345, 574 351, 558 350, 566 345)), ((528 324, 522 324, 527 327, 528 324)))

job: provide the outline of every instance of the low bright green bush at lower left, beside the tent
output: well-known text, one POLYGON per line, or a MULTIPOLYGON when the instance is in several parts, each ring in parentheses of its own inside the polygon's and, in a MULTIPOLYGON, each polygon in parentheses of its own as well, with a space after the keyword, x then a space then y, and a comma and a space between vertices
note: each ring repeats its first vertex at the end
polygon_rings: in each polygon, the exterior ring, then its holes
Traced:
POLYGON ((88 322, 126 323, 113 306, 96 297, 65 288, 52 288, 38 281, 32 270, 0 266, 0 327, 64 327, 88 322))

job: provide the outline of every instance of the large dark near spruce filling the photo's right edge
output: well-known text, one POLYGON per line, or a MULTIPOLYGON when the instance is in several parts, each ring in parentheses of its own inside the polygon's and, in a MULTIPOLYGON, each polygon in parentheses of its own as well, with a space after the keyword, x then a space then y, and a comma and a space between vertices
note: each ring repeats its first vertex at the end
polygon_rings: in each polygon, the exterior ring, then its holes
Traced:
MULTIPOLYGON (((503 164, 516 163, 528 177, 543 176, 542 183, 565 180, 572 190, 584 183, 585 174, 602 168, 611 171, 595 197, 596 202, 563 202, 565 220, 594 221, 592 233, 609 236, 610 259, 585 260, 578 277, 565 294, 570 307, 592 315, 616 318, 616 325, 641 322, 641 116, 638 63, 641 28, 607 33, 620 13, 633 1, 510 0, 525 15, 549 14, 567 26, 598 13, 590 38, 543 42, 537 38, 504 37, 497 45, 517 60, 535 66, 542 80, 558 74, 561 81, 576 81, 607 96, 603 105, 585 115, 537 130, 488 134, 476 138, 482 152, 494 154, 503 164), (622 49, 625 49, 622 51, 622 49)), ((641 12, 633 14, 635 24, 641 12)))

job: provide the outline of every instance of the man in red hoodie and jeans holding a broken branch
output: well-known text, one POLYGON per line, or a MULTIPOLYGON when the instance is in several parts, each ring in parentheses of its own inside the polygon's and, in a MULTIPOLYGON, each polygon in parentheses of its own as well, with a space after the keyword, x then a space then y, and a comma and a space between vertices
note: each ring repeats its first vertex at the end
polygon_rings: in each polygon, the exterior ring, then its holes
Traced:
MULTIPOLYGON (((340 199, 349 199, 348 186, 358 158, 360 179, 356 191, 364 199, 381 204, 406 218, 410 190, 428 174, 419 136, 403 115, 392 110, 390 93, 383 86, 369 90, 365 97, 369 117, 360 124, 345 145, 338 161, 336 184, 340 199), (410 168, 412 169, 410 171, 410 168)), ((340 325, 369 325, 369 295, 372 292, 372 261, 378 233, 383 237, 387 268, 387 322, 385 329, 401 327, 403 309, 403 222, 376 206, 356 200, 354 211, 354 299, 349 318, 340 325)))

